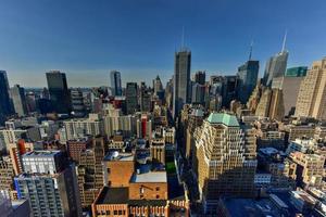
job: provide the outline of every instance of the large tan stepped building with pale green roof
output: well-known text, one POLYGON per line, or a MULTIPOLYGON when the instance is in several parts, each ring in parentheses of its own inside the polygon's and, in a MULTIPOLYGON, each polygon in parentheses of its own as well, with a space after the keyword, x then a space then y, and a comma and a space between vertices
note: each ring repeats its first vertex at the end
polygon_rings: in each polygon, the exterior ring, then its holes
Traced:
POLYGON ((211 113, 195 131, 200 199, 206 215, 216 215, 221 196, 253 196, 255 137, 236 116, 211 113))

